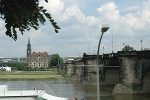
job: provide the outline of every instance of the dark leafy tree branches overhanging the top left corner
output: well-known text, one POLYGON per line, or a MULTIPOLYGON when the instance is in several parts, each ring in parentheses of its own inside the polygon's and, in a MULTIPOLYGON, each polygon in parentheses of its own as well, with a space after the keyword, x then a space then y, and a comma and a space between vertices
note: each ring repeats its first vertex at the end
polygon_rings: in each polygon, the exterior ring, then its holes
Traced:
MULTIPOLYGON (((48 0, 45 2, 48 3, 48 0)), ((56 33, 60 29, 47 10, 39 6, 39 0, 0 0, 0 14, 0 18, 6 23, 5 34, 14 40, 17 40, 16 28, 23 35, 25 30, 31 28, 38 30, 39 23, 44 24, 46 18, 51 22, 56 33)))

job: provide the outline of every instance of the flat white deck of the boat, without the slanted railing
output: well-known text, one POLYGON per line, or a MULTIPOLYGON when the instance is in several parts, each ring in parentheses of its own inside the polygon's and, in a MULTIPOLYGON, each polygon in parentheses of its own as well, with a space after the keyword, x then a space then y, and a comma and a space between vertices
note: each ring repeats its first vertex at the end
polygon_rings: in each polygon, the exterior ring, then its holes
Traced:
POLYGON ((38 97, 47 100, 68 100, 68 98, 50 95, 44 90, 8 91, 7 85, 0 85, 0 100, 38 100, 38 97))

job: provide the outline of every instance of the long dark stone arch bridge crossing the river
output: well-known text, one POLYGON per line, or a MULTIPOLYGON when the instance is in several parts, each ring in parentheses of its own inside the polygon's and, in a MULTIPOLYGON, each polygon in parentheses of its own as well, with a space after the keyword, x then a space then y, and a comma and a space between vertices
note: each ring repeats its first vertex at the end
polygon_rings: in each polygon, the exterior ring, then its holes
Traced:
MULTIPOLYGON (((150 51, 118 51, 99 55, 100 84, 114 84, 113 94, 150 93, 150 51)), ((96 84, 96 55, 86 55, 59 67, 61 73, 96 84)))

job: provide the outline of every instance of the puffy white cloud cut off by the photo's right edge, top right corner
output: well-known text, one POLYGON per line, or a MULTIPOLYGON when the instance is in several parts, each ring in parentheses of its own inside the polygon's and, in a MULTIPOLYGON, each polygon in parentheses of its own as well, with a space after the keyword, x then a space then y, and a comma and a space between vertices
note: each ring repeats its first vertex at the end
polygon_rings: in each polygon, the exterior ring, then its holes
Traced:
POLYGON ((150 0, 143 3, 142 9, 136 13, 126 15, 127 21, 135 32, 149 30, 150 26, 150 0))

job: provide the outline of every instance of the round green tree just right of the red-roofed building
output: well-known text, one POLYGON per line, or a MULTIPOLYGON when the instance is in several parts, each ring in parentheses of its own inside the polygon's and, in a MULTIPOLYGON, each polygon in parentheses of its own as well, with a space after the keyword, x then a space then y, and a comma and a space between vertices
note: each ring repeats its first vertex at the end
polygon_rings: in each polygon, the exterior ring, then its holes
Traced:
POLYGON ((63 58, 61 58, 58 54, 53 54, 49 63, 49 67, 53 67, 59 65, 63 62, 63 58))

